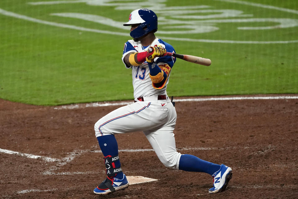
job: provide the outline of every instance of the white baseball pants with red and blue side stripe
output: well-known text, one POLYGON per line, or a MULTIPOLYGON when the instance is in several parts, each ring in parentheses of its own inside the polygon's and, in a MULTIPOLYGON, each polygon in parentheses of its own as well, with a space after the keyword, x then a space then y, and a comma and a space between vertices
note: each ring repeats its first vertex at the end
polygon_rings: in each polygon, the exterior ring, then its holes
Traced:
POLYGON ((172 169, 179 169, 181 154, 176 150, 174 128, 177 114, 169 98, 143 97, 144 101, 120 107, 94 125, 95 136, 143 131, 159 160, 172 169))

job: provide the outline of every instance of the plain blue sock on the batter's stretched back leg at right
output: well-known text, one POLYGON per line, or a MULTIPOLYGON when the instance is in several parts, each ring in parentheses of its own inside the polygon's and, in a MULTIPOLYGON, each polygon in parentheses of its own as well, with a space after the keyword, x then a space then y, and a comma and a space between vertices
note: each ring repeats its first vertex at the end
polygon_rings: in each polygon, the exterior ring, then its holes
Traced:
POLYGON ((194 155, 183 154, 180 157, 179 170, 203 172, 213 175, 219 169, 219 164, 214 164, 205 160, 201 160, 200 158, 194 155))

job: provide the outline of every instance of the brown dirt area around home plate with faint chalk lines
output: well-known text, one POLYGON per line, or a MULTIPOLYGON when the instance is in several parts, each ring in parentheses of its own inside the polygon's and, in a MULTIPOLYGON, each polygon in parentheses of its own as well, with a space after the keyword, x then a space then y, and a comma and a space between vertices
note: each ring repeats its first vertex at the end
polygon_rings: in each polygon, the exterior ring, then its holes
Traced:
POLYGON ((116 135, 122 169, 158 181, 93 194, 105 178, 93 126, 118 107, 0 99, 0 198, 298 198, 298 99, 176 102, 177 150, 230 166, 225 192, 208 193, 208 174, 165 168, 142 132, 134 132, 116 135))

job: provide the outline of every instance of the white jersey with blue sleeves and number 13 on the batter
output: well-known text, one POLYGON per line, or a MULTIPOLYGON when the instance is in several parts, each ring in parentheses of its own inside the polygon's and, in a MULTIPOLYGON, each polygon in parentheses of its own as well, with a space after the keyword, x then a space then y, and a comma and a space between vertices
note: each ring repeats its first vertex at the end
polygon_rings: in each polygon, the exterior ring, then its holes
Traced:
MULTIPOLYGON (((165 86, 162 89, 155 89, 152 86, 152 81, 149 76, 149 67, 147 61, 143 62, 140 66, 128 66, 124 62, 124 57, 128 53, 133 52, 145 52, 148 50, 150 46, 154 45, 162 45, 167 52, 175 53, 174 48, 164 42, 161 39, 154 39, 154 41, 151 43, 151 45, 147 47, 143 47, 141 42, 135 42, 133 40, 129 40, 124 44, 124 50, 123 50, 123 56, 122 61, 126 68, 132 68, 132 78, 133 78, 133 97, 136 99, 138 97, 144 97, 144 96, 152 96, 152 95, 166 95, 166 89, 167 84, 169 83, 169 76, 167 81, 165 82, 165 86)), ((157 65, 161 64, 168 64, 171 68, 173 67, 174 63, 176 62, 176 58, 170 57, 170 56, 164 56, 164 57, 157 57, 154 59, 157 65)))

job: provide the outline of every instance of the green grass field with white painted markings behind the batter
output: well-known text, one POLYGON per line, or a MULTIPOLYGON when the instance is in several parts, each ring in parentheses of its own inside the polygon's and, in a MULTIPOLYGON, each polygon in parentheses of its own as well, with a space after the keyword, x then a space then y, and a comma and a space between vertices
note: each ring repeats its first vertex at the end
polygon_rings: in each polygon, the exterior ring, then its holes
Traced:
POLYGON ((292 0, 0 1, 0 98, 37 105, 133 99, 121 61, 129 13, 156 12, 177 53, 174 96, 298 93, 298 2, 292 0), (175 5, 175 6, 173 6, 175 5), (119 25, 120 24, 120 25, 119 25))

